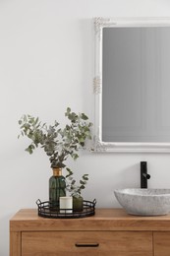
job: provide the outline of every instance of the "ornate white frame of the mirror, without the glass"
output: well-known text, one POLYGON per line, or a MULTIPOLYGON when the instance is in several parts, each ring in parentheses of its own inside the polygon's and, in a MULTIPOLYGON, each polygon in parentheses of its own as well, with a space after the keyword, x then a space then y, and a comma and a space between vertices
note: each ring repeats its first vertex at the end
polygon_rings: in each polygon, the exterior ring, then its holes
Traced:
POLYGON ((94 18, 95 65, 94 92, 94 152, 170 153, 170 143, 123 143, 102 141, 102 36, 103 28, 118 27, 170 27, 169 18, 105 19, 94 18))

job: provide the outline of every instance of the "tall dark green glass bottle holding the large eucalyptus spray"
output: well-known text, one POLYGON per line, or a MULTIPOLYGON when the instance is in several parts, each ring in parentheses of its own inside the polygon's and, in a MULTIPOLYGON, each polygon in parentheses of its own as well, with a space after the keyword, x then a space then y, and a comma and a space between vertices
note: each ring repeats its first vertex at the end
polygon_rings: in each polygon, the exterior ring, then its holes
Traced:
POLYGON ((59 207, 60 197, 66 196, 66 180, 61 168, 53 168, 49 179, 49 202, 51 207, 59 207))

